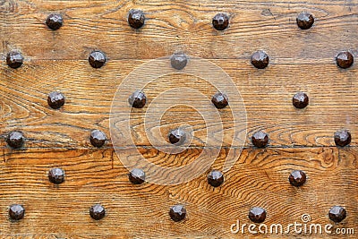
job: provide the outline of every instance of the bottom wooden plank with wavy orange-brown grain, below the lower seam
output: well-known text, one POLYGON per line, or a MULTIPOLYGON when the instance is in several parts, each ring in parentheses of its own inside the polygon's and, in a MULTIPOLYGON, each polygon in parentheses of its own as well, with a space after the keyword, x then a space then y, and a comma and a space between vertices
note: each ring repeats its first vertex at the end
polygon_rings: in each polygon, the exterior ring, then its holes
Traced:
MULTIPOLYGON (((165 157, 156 149, 139 150, 159 164, 165 157)), ((199 153, 200 149, 188 149, 183 154, 199 153)), ((207 184, 206 174, 180 185, 132 185, 113 149, 4 150, 1 154, 0 228, 8 237, 240 237, 230 232, 230 226, 236 219, 250 223, 247 214, 254 206, 267 209, 267 225, 300 223, 303 213, 311 215, 311 223, 328 224, 328 210, 334 205, 347 210, 347 218, 334 228, 354 227, 358 220, 358 198, 353 193, 358 190, 356 148, 244 149, 225 173, 225 183, 215 189, 207 184), (64 168, 64 184, 54 186, 47 180, 53 166, 64 168), (294 169, 308 175, 303 187, 288 183, 294 169), (107 217, 94 221, 88 210, 98 202, 106 207, 107 217), (19 222, 6 216, 12 203, 26 209, 19 222), (188 211, 180 223, 168 216, 169 207, 176 203, 183 203, 188 211)), ((167 156, 167 162, 183 165, 183 154, 167 156)), ((222 149, 211 168, 220 169, 226 154, 227 149, 222 149)))

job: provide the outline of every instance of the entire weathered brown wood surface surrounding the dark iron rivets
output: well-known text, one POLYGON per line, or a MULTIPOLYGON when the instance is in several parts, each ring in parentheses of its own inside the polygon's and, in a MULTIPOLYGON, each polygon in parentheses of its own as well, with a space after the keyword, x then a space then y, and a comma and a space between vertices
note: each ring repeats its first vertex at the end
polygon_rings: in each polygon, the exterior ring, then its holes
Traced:
MULTIPOLYGON (((347 210, 347 218, 335 227, 354 228, 357 234, 358 68, 355 63, 341 70, 334 61, 339 51, 350 50, 357 62, 357 14, 356 0, 0 1, 0 237, 255 237, 230 232, 236 219, 250 223, 251 207, 268 210, 268 225, 301 222, 303 213, 311 215, 312 223, 324 225, 331 223, 328 210, 334 205, 347 210), (141 30, 132 30, 126 22, 132 8, 143 10, 148 18, 141 30), (315 17, 311 30, 299 30, 295 24, 303 11, 315 17), (55 12, 63 13, 64 26, 48 30, 45 19, 55 12), (230 14, 230 26, 223 32, 210 24, 219 12, 230 14), (21 50, 25 57, 16 70, 4 62, 11 49, 21 50), (88 64, 93 49, 107 55, 101 69, 88 64), (258 49, 270 57, 265 70, 250 64, 258 49), (177 51, 222 67, 245 103, 245 149, 217 189, 207 184, 206 175, 175 186, 132 185, 112 149, 108 124, 117 85, 135 67, 177 51), (67 99, 60 110, 47 106, 53 90, 61 90, 67 99), (292 106, 297 91, 308 93, 306 109, 292 106), (107 133, 104 149, 90 145, 92 129, 107 133), (333 133, 339 129, 352 132, 350 147, 334 146, 333 133), (6 146, 4 138, 12 130, 24 133, 23 149, 6 146), (258 130, 268 132, 268 149, 252 149, 250 137, 258 130), (66 172, 66 181, 59 186, 47 179, 54 166, 66 172), (294 169, 308 175, 307 184, 298 189, 287 181, 294 169), (89 208, 98 202, 106 207, 107 217, 94 221, 89 208), (26 208, 25 218, 15 223, 7 217, 13 203, 26 208), (176 203, 188 210, 180 223, 168 217, 169 207, 176 203)), ((192 87, 191 82, 192 77, 179 81, 173 76, 145 90, 150 102, 178 85, 192 87)), ((216 92, 199 79, 195 89, 208 97, 216 92)), ((212 168, 222 166, 230 146, 232 118, 227 110, 221 113, 225 148, 212 168)), ((150 147, 142 112, 132 112, 133 135, 146 158, 160 166, 182 166, 199 155, 206 133, 200 115, 188 107, 164 115, 164 136, 183 122, 192 124, 195 132, 192 148, 166 155, 150 147)))

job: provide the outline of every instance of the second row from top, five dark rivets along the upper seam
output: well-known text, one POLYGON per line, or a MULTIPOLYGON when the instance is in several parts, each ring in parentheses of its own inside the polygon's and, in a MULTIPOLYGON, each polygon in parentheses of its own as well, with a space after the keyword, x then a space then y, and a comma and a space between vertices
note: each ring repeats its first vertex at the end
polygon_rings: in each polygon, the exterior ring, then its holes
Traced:
MULTIPOLYGON (((170 58, 171 65, 176 70, 182 70, 188 63, 188 58, 183 54, 174 54, 170 58)), ((93 68, 100 68, 106 63, 106 55, 98 50, 90 53, 89 63, 93 68)), ((259 50, 251 55, 251 64, 258 69, 264 69, 268 66, 269 58, 268 55, 259 50)), ((349 68, 354 63, 354 56, 348 52, 340 52, 336 56, 337 65, 341 68, 349 68)), ((13 69, 19 68, 23 63, 23 56, 18 51, 10 51, 6 56, 6 64, 13 69)))

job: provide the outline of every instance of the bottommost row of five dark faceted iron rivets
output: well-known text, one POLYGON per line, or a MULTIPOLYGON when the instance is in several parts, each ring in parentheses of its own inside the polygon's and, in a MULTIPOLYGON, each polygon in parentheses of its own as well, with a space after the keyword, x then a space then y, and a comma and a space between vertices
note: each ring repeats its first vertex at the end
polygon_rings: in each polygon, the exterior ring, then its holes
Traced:
MULTIPOLYGON (((9 217, 13 220, 20 220, 25 215, 25 209, 19 204, 13 204, 9 209, 9 217)), ((100 205, 95 204, 90 207, 90 217, 95 220, 100 220, 106 216, 106 209, 100 205)), ((169 209, 169 216, 175 222, 179 222, 186 217, 186 209, 182 204, 177 204, 169 209)), ((267 212, 265 209, 254 207, 249 211, 249 218, 254 223, 262 223, 265 221, 267 212)), ((334 206, 329 209, 328 217, 339 223, 346 217, 345 208, 341 206, 334 206)))

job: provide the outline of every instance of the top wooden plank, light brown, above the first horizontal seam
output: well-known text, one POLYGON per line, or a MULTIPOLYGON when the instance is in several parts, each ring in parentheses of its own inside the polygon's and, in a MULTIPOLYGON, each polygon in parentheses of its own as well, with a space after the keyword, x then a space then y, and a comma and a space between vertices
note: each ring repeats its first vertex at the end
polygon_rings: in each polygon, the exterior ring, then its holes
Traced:
POLYGON ((34 0, 2 1, 0 12, 2 53, 18 48, 27 59, 87 59, 93 49, 103 50, 112 60, 153 59, 175 51, 249 59, 264 49, 273 61, 330 63, 343 49, 357 54, 357 1, 34 0), (132 8, 146 14, 141 30, 128 26, 132 8), (311 30, 296 26, 303 11, 315 17, 311 30), (61 30, 45 25, 47 15, 54 12, 64 15, 61 30), (230 15, 229 28, 223 32, 211 26, 219 12, 230 15))

